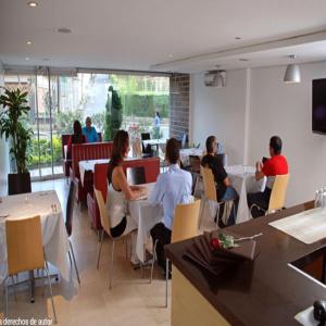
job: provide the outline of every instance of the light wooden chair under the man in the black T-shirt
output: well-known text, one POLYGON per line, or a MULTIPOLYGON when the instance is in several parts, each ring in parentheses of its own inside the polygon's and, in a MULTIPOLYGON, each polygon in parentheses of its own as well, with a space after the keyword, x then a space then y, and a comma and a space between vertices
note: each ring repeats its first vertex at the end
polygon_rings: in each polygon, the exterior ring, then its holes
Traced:
MULTIPOLYGON (((218 216, 220 216, 221 205, 224 205, 224 208, 225 208, 226 203, 227 203, 228 205, 231 205, 233 210, 236 210, 234 201, 233 200, 218 201, 217 193, 216 193, 214 175, 213 175, 212 170, 210 167, 200 166, 200 172, 201 172, 201 176, 202 176, 202 180, 203 180, 203 188, 204 188, 205 198, 208 200, 217 202, 217 210, 216 210, 216 215, 214 216, 214 221, 216 218, 216 226, 218 226, 218 222, 220 222, 218 216)), ((203 213, 203 210, 202 210, 202 213, 203 213)), ((234 212, 234 213, 236 214, 236 212, 234 212)), ((227 224, 227 218, 229 216, 228 212, 224 212, 224 216, 226 216, 224 218, 224 224, 227 224)))

